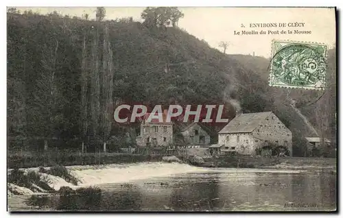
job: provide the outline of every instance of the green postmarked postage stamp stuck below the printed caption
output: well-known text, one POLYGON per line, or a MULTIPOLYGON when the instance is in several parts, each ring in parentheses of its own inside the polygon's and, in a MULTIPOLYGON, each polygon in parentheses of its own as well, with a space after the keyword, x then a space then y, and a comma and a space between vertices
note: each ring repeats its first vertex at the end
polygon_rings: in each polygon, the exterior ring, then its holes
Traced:
POLYGON ((270 86, 324 90, 327 46, 272 42, 270 86))

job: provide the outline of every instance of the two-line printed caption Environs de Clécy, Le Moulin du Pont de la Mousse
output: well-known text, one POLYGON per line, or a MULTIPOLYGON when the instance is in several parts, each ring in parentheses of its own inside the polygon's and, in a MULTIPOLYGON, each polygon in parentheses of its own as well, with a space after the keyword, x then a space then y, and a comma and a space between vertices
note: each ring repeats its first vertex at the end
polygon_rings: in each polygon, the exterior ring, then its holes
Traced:
MULTIPOLYGON (((283 35, 283 34, 311 34, 310 30, 305 29, 305 23, 249 23, 248 27, 254 29, 234 30, 234 35, 283 35)), ((246 28, 241 24, 241 28, 246 28)))

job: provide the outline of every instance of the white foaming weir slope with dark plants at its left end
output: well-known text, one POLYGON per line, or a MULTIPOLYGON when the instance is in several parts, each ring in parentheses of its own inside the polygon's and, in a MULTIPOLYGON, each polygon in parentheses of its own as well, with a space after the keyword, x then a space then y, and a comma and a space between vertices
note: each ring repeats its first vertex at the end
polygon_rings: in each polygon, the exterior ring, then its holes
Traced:
MULTIPOLYGON (((206 171, 178 162, 139 162, 110 165, 75 165, 64 167, 70 176, 49 174, 51 167, 8 169, 8 195, 32 195, 32 193, 54 193, 62 186, 78 189, 107 183, 125 183, 146 178, 163 177, 191 171, 206 171), (42 170, 44 169, 44 171, 42 170), (20 171, 20 173, 18 173, 20 171), (11 178, 12 173, 16 178, 11 178), (73 183, 66 178, 75 178, 73 183), (24 181, 24 182, 23 182, 24 181)), ((56 174, 56 173, 55 173, 56 174)))

